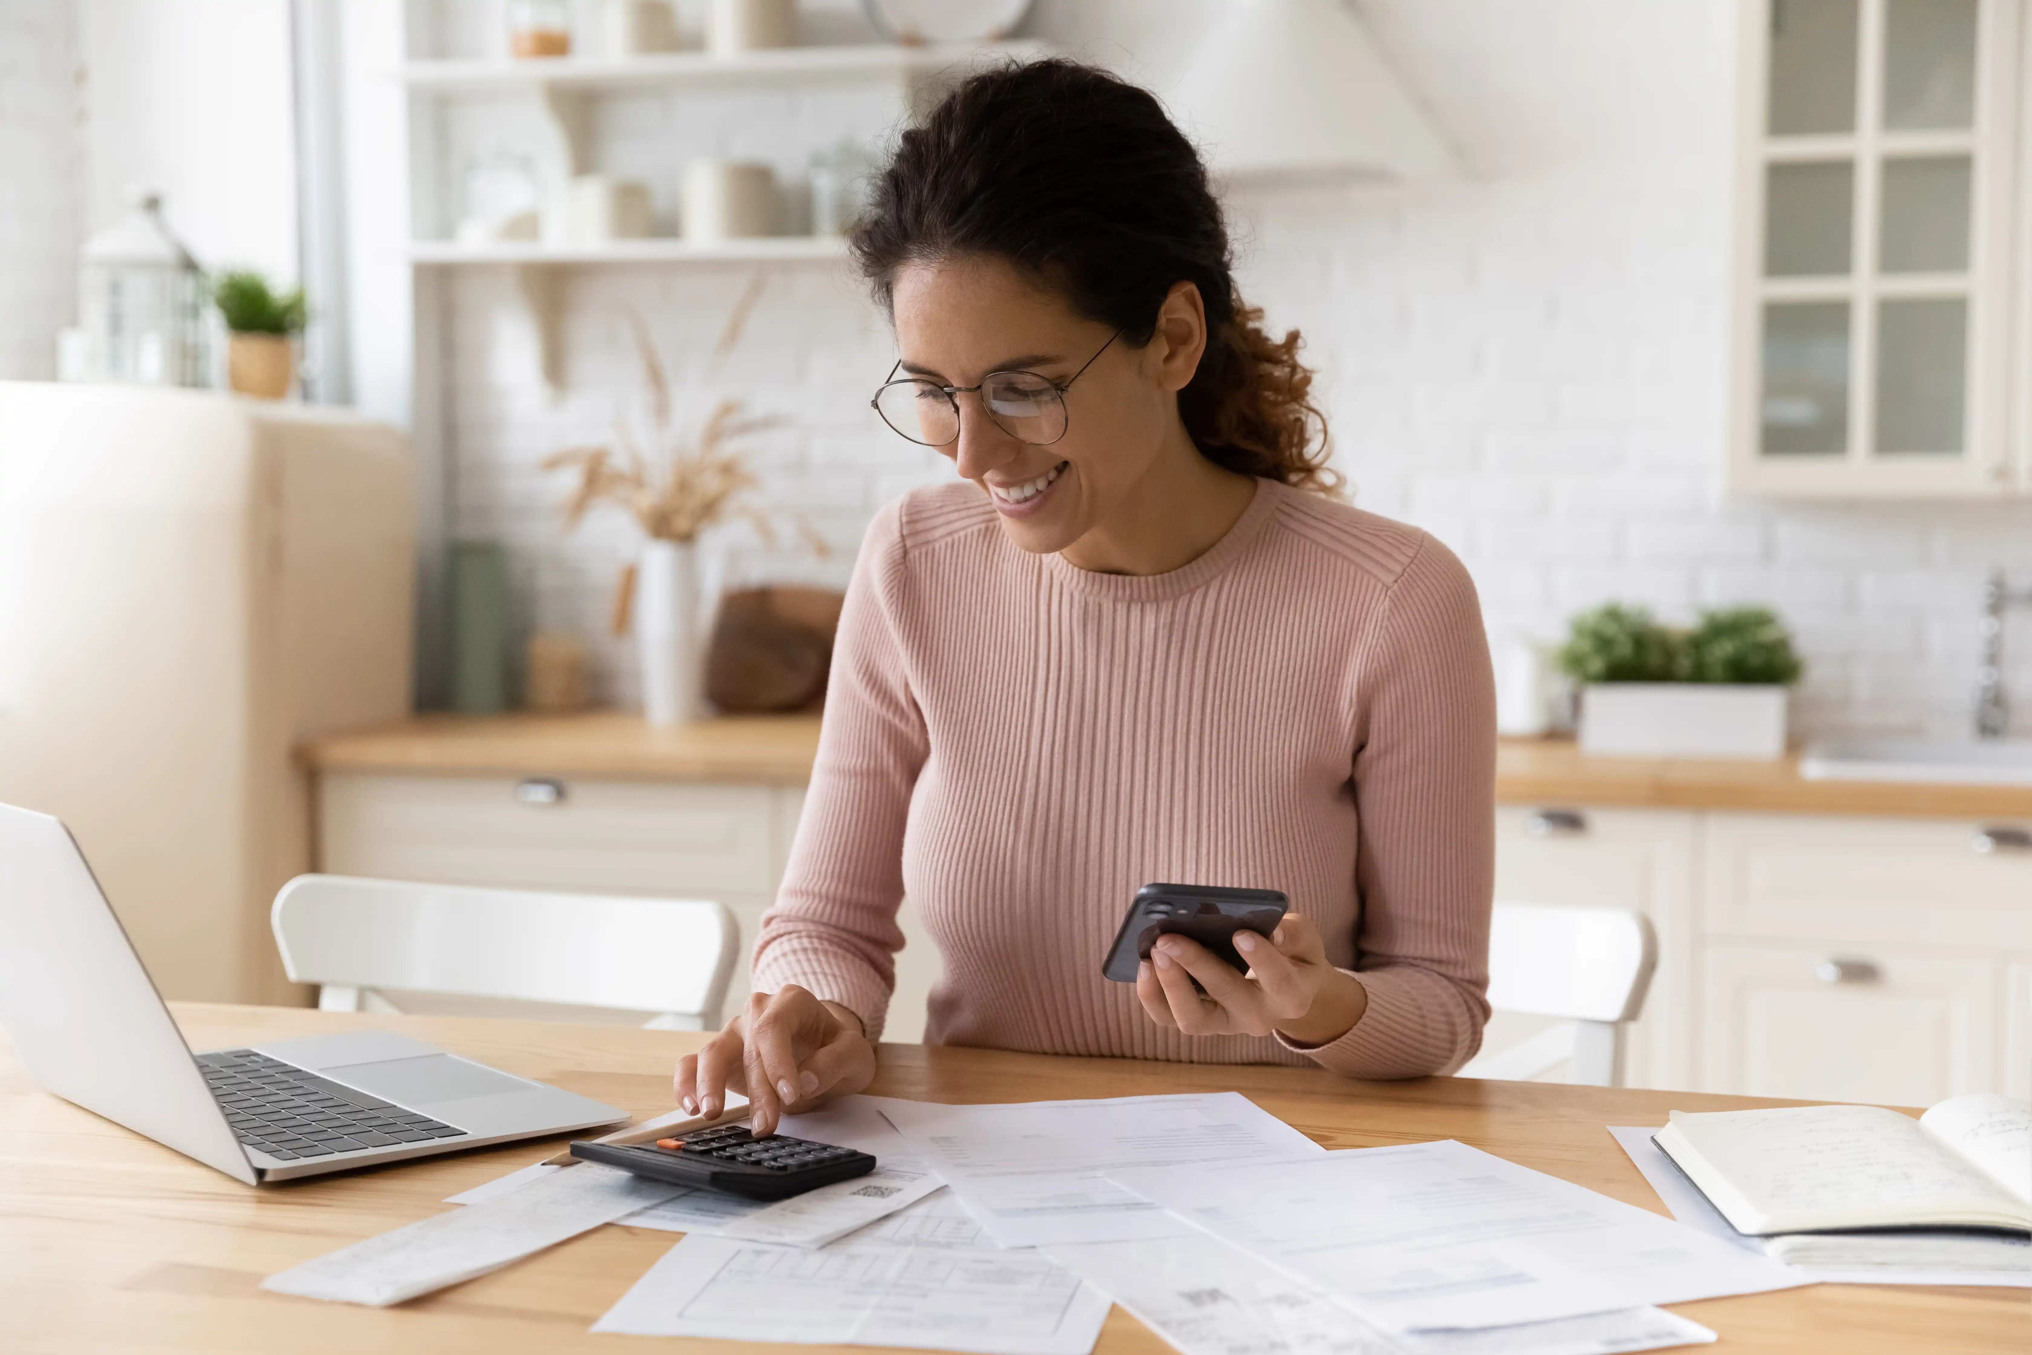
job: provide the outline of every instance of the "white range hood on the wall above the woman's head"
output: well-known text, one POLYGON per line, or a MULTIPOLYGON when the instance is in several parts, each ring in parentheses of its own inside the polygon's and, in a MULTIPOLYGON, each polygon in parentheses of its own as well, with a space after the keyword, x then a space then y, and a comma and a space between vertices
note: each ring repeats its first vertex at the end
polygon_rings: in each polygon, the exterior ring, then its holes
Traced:
POLYGON ((1235 183, 1451 179, 1453 150, 1345 0, 1227 0, 1168 104, 1235 183))

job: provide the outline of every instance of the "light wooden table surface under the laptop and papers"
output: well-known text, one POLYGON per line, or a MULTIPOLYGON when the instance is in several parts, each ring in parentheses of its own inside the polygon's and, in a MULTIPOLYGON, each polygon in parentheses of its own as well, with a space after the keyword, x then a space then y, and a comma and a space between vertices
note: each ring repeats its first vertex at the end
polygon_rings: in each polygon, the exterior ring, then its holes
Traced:
MULTIPOLYGON (((193 1048, 345 1028, 390 1028, 622 1105, 671 1107, 671 1064, 701 1036, 604 1026, 390 1018, 177 1004, 193 1048)), ((1666 1109, 1745 1097, 1426 1079, 1349 1083, 1321 1071, 1044 1058, 890 1044, 874 1091, 927 1101, 1242 1091, 1327 1148, 1457 1138, 1646 1209, 1644 1178, 1603 1132, 1664 1123, 1666 1109)), ((650 1349, 587 1329, 671 1245, 604 1227, 504 1272, 400 1308, 268 1294, 262 1276, 451 1209, 447 1195, 534 1162, 516 1144, 254 1190, 39 1091, 0 1044, 0 1351, 398 1355, 402 1351, 650 1349)), ((1660 1211, 1662 1213, 1662 1211, 1660 1211)), ((1823 1284, 1680 1304, 1725 1351, 2032 1351, 2026 1290, 1823 1284)), ((679 1343, 693 1347, 732 1343, 679 1343)), ((744 1347, 758 1351, 762 1347, 744 1347)), ((778 1347, 809 1355, 811 1347, 778 1347)), ((1101 1355, 1168 1351, 1120 1308, 1101 1355)))

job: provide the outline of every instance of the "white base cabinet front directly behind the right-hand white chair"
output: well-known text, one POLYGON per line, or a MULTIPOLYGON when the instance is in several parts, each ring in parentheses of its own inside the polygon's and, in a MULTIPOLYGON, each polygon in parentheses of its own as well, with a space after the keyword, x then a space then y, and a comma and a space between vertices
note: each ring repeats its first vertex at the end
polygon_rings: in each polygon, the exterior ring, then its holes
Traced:
MULTIPOLYGON (((1496 898, 1506 904, 1630 908, 1658 932, 1658 971, 1630 1028, 1628 1085, 1691 1087, 1693 882, 1697 815, 1538 806, 1496 813, 1496 898)), ((1552 1022, 1498 1016, 1496 1050, 1552 1022)))

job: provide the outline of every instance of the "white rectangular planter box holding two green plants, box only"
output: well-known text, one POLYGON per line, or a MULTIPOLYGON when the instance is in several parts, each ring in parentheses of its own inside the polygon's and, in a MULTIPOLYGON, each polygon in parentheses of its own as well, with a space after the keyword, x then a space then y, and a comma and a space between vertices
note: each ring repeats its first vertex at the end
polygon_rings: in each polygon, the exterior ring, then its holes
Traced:
POLYGON ((1784 687, 1593 683, 1581 752, 1624 758, 1782 758, 1784 687))

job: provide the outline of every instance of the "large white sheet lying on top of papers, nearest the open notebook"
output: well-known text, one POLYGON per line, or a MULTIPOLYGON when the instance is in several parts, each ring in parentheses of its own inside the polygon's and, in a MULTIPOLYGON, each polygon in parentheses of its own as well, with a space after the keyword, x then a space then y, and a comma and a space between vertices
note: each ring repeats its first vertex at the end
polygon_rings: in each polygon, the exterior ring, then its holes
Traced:
POLYGON ((1451 1140, 1116 1180, 1390 1333, 1806 1284, 1764 1255, 1451 1140))

